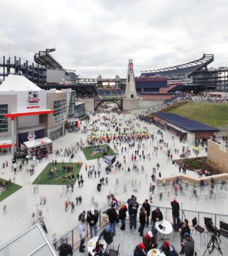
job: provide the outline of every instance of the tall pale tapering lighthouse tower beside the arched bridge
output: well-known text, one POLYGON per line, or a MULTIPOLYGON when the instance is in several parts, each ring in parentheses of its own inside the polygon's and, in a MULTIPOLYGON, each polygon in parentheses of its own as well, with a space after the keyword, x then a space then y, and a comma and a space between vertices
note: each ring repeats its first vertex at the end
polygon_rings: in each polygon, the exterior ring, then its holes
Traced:
POLYGON ((136 83, 134 81, 134 69, 132 59, 129 59, 128 63, 128 74, 125 95, 126 98, 136 98, 136 83))

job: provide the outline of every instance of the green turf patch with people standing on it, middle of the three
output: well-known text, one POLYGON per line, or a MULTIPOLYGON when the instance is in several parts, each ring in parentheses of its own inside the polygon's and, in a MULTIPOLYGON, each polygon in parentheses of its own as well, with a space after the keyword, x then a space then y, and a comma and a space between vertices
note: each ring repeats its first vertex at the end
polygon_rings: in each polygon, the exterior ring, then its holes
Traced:
MULTIPOLYGON (((53 165, 52 163, 48 163, 46 167, 43 169, 43 171, 40 173, 40 175, 35 179, 33 184, 41 184, 41 185, 71 185, 76 182, 77 174, 80 172, 80 169, 82 167, 82 163, 80 166, 77 165, 77 163, 57 163, 57 165, 53 165), (67 171, 63 171, 63 165, 72 165, 73 166, 73 175, 74 180, 68 180, 68 177, 65 179, 65 182, 63 182, 63 175, 68 176, 67 171), (50 168, 54 168, 53 172, 53 178, 50 177, 49 172, 50 168)), ((72 175, 72 173, 70 173, 72 175)))

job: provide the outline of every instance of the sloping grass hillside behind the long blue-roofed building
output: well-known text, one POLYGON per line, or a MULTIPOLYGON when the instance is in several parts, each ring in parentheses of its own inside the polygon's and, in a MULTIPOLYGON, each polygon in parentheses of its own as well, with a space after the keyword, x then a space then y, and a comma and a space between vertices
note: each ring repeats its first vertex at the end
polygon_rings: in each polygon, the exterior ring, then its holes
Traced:
POLYGON ((228 128, 228 104, 225 103, 189 102, 168 112, 212 127, 227 125, 228 128))

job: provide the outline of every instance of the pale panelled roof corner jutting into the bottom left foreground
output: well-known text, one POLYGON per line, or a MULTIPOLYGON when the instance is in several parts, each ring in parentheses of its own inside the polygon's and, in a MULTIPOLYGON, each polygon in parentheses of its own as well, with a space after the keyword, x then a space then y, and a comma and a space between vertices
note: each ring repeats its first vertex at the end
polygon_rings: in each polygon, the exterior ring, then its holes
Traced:
POLYGON ((58 256, 40 223, 0 247, 0 255, 58 256))

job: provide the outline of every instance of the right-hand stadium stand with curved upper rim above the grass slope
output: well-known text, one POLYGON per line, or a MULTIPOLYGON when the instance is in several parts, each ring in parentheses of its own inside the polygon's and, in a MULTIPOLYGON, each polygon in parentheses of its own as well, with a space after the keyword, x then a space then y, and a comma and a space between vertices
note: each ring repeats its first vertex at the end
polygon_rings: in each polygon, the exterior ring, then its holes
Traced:
POLYGON ((208 67, 214 61, 214 54, 203 54, 194 61, 171 67, 146 69, 141 71, 141 78, 167 78, 168 92, 175 91, 228 91, 228 68, 208 67))

